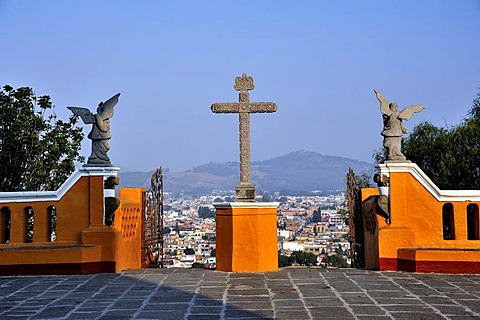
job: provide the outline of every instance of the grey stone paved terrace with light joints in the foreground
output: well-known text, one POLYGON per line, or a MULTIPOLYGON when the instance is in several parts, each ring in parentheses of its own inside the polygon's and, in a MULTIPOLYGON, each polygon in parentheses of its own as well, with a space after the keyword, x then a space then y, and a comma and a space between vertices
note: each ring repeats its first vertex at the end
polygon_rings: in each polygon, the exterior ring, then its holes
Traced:
POLYGON ((480 319, 480 275, 287 268, 0 277, 0 319, 480 319))

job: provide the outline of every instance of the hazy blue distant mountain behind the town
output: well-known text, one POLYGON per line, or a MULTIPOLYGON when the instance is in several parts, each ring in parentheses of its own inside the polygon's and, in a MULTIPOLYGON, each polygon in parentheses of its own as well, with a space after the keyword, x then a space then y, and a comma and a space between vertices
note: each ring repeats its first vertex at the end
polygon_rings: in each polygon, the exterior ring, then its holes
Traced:
MULTIPOLYGON (((257 193, 279 191, 307 193, 313 190, 345 189, 345 176, 352 167, 357 174, 373 174, 373 164, 316 152, 295 151, 251 164, 257 193)), ((213 190, 234 190, 240 180, 238 162, 208 163, 191 170, 164 173, 165 192, 209 194, 213 190)), ((152 172, 120 172, 120 187, 150 187, 152 172)))

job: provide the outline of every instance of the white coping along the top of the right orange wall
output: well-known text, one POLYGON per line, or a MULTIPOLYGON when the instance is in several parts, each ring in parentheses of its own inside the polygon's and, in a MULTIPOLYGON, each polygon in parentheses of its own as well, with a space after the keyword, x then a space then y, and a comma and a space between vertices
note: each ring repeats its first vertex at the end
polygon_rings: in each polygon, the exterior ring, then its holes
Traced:
POLYGON ((415 163, 384 163, 375 166, 377 171, 390 177, 390 173, 410 173, 437 201, 480 201, 480 190, 441 190, 415 163))

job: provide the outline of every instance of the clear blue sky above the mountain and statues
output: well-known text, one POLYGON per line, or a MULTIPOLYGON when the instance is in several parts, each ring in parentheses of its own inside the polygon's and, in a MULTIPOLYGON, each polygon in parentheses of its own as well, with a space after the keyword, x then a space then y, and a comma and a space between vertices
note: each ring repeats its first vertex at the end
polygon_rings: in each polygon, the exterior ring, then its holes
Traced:
MULTIPOLYGON (((121 92, 109 156, 125 171, 238 161, 234 78, 254 78, 252 160, 290 151, 373 162, 373 89, 406 122, 458 124, 480 87, 480 1, 0 0, 0 84, 94 110, 121 92)), ((85 126, 85 133, 90 128, 85 126)), ((89 142, 82 153, 90 153, 89 142)))

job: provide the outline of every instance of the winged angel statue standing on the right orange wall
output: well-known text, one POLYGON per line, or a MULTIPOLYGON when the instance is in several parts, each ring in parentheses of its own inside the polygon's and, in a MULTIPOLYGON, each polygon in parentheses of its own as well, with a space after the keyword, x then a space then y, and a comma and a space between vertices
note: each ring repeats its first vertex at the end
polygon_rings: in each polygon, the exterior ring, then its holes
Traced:
POLYGON ((377 90, 373 90, 380 101, 380 111, 383 116, 383 146, 387 150, 385 161, 404 162, 407 159, 401 151, 402 136, 408 132, 403 125, 403 120, 410 120, 414 113, 425 109, 424 106, 408 106, 398 111, 395 102, 388 103, 388 100, 377 90))

